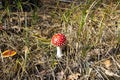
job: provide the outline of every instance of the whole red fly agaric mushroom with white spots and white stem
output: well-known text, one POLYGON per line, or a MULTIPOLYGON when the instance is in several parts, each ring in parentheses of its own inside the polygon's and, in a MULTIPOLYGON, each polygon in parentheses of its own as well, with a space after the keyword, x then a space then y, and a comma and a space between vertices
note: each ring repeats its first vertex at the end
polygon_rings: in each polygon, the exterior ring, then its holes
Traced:
POLYGON ((61 33, 53 35, 51 43, 52 45, 57 47, 57 57, 61 58, 63 56, 61 48, 66 43, 65 35, 61 33))

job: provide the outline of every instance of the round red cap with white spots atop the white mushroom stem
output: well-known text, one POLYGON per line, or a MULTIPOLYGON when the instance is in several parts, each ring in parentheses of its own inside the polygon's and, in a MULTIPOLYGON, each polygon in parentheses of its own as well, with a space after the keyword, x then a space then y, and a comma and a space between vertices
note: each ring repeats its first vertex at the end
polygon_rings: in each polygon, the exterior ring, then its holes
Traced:
POLYGON ((55 46, 63 46, 66 43, 66 37, 61 33, 55 34, 52 37, 51 43, 55 46))

